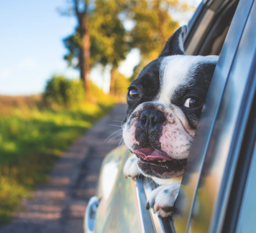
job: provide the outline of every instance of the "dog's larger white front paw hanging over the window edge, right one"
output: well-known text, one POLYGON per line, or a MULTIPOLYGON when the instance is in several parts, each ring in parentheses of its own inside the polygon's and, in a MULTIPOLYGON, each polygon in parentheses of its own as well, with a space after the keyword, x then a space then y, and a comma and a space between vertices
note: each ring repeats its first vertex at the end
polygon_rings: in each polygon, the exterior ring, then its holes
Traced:
POLYGON ((146 209, 153 209, 160 217, 168 217, 173 211, 180 184, 165 184, 154 189, 147 199, 146 209))

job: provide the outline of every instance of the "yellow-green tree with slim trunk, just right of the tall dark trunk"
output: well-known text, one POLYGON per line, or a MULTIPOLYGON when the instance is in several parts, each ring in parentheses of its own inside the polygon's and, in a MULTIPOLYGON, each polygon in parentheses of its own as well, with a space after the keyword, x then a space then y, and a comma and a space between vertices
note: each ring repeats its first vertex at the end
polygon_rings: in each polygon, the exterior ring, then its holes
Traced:
POLYGON ((122 1, 96 0, 91 17, 91 57, 94 64, 111 65, 111 95, 115 93, 115 73, 119 62, 129 52, 127 31, 120 19, 123 10, 122 1))

